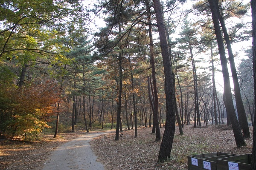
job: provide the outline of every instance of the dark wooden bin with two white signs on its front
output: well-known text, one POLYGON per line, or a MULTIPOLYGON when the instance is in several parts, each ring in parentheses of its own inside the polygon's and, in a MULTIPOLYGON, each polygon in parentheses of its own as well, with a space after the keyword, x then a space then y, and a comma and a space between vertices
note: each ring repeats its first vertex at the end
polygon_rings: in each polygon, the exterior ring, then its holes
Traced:
POLYGON ((216 161, 234 154, 214 152, 188 156, 189 170, 217 170, 216 161))

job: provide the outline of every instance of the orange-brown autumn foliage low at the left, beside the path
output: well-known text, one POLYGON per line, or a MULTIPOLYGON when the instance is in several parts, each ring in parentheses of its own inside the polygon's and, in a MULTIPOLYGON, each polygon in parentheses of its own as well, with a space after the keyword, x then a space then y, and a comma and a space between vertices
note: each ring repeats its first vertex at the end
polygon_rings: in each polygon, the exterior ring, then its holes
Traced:
POLYGON ((6 137, 37 136, 55 113, 57 85, 33 83, 0 88, 0 131, 6 137))

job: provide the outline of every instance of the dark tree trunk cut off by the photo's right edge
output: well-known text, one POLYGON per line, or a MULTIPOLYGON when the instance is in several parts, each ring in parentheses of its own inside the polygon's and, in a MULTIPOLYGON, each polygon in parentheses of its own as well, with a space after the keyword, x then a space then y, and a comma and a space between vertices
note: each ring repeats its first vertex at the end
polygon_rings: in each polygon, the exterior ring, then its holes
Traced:
MULTIPOLYGON (((256 96, 256 1, 251 0, 252 24, 253 24, 253 79, 254 79, 254 96, 256 96)), ((253 152, 250 170, 256 169, 256 109, 254 110, 253 124, 253 152)))

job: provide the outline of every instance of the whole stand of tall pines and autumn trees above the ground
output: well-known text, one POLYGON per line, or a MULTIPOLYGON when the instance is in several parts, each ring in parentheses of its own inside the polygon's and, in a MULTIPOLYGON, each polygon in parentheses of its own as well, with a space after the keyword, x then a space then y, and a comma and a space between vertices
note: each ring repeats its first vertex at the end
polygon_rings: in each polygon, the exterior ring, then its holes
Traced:
POLYGON ((255 141, 255 8, 253 0, 1 1, 0 138, 83 127, 116 129, 118 141, 123 129, 136 138, 152 127, 159 161, 170 157, 176 123, 180 134, 189 124, 232 125, 237 147, 255 141))

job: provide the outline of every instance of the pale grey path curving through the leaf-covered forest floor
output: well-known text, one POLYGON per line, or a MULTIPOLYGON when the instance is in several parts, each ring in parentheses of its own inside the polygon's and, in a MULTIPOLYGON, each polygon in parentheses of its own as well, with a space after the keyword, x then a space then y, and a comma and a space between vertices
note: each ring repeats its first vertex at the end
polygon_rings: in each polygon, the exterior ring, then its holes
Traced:
POLYGON ((104 170, 90 147, 90 141, 111 131, 88 133, 59 146, 44 163, 42 170, 104 170))

